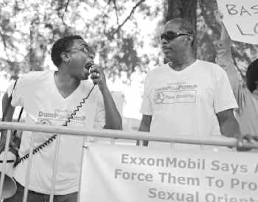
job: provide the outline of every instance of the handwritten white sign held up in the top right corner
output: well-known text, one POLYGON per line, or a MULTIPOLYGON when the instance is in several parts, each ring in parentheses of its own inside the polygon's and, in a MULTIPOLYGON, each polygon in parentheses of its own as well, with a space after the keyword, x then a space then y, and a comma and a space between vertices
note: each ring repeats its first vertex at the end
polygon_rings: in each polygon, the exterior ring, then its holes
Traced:
POLYGON ((217 0, 232 40, 258 44, 258 1, 217 0))

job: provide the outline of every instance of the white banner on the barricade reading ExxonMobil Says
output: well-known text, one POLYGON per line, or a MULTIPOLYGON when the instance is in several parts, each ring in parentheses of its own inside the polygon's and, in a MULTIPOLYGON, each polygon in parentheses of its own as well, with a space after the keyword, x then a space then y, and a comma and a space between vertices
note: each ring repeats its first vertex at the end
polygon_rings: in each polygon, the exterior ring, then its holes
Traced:
POLYGON ((258 154, 94 144, 80 201, 257 202, 258 154))

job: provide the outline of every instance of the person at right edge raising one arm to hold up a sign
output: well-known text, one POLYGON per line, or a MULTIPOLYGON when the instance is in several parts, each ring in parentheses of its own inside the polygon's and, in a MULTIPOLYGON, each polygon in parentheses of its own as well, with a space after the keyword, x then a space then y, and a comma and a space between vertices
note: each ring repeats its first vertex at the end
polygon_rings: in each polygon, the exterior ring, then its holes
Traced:
MULTIPOLYGON (((258 59, 246 70, 246 82, 241 83, 231 53, 231 39, 223 23, 223 14, 216 10, 215 19, 221 26, 220 40, 214 42, 216 62, 226 71, 239 108, 236 117, 240 131, 248 141, 258 141, 258 59)), ((253 151, 258 151, 253 149, 253 151)))

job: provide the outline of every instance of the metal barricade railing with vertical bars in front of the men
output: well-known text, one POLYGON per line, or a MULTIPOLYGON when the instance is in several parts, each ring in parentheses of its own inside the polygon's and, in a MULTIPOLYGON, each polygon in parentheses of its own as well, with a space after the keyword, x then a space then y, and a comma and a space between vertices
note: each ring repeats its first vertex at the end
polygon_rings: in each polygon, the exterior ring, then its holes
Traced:
MULTIPOLYGON (((23 124, 15 122, 0 122, 0 130, 7 129, 7 139, 5 151, 8 150, 7 145, 10 141, 10 130, 21 130, 21 131, 32 131, 31 143, 30 143, 30 152, 29 152, 29 162, 26 172, 26 181, 25 181, 25 190, 23 196, 23 202, 27 201, 29 179, 30 179, 30 169, 32 165, 32 153, 33 153, 33 144, 35 140, 35 132, 44 132, 44 133, 54 133, 54 134, 66 134, 66 135, 76 135, 76 136, 93 136, 93 137, 104 137, 112 139, 128 139, 128 140, 148 140, 148 141, 159 141, 159 142, 168 142, 173 146, 174 143, 185 143, 185 144, 196 144, 196 145, 214 145, 214 146, 226 146, 226 147, 235 147, 237 140, 235 138, 227 138, 223 136, 171 136, 171 137, 155 137, 146 132, 137 132, 137 131, 120 131, 120 130, 110 130, 110 129, 85 129, 85 128, 69 128, 65 126, 48 126, 48 125, 32 125, 32 124, 23 124)), ((85 143, 85 138, 83 144, 85 143)), ((113 141, 112 141, 113 142, 113 141)), ((56 148, 55 148, 55 163, 53 165, 53 177, 52 177, 52 189, 50 194, 50 202, 53 202, 54 197, 54 188, 55 188, 55 179, 57 172, 58 164, 58 151, 60 144, 60 135, 57 135, 56 148)), ((244 145, 246 148, 258 149, 258 145, 246 143, 244 145)), ((83 155, 83 154, 81 154, 83 155)), ((3 169, 1 176, 4 176, 6 173, 6 162, 7 158, 3 158, 3 169)), ((81 158, 82 163, 82 158, 81 158)), ((81 175, 81 173, 80 173, 81 175)), ((3 189, 4 177, 1 177, 0 180, 0 199, 2 198, 2 189, 3 189)), ((79 199, 78 199, 79 200, 79 199)))

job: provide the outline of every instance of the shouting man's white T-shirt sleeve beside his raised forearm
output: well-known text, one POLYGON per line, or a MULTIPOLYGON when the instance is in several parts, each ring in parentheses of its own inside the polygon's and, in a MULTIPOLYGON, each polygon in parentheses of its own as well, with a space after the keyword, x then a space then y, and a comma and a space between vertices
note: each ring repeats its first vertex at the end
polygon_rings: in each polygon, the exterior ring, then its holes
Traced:
POLYGON ((98 92, 97 97, 98 97, 98 101, 97 101, 98 103, 97 103, 97 109, 96 109, 93 127, 96 129, 99 129, 99 128, 103 128, 103 126, 105 125, 106 116, 105 116, 105 105, 104 105, 102 94, 98 92))

